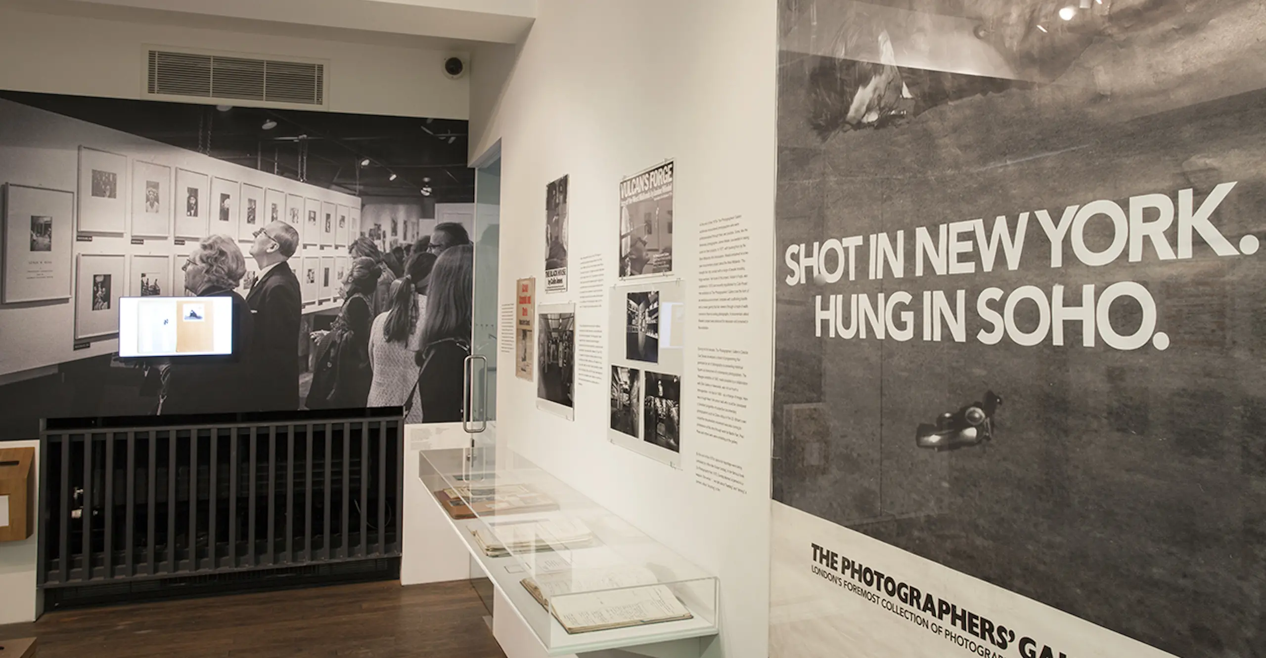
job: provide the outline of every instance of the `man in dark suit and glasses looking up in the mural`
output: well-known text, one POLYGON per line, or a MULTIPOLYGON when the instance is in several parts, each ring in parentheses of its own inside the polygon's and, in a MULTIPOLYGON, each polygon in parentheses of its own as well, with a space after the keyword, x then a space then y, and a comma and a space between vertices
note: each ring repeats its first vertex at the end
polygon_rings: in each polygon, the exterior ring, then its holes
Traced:
POLYGON ((254 313, 251 362, 257 391, 256 409, 299 409, 299 320, 303 309, 299 278, 286 261, 299 248, 299 232, 272 221, 254 232, 251 256, 260 264, 260 281, 246 301, 254 313))

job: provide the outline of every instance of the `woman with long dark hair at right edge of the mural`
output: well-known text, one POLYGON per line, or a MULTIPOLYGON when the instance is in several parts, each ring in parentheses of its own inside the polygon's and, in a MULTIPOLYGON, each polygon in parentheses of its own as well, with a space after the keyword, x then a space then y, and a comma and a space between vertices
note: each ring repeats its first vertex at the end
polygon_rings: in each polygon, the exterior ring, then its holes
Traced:
POLYGON ((427 291, 427 310, 417 364, 418 404, 423 423, 460 423, 466 357, 471 353, 475 249, 446 249, 436 259, 427 291))

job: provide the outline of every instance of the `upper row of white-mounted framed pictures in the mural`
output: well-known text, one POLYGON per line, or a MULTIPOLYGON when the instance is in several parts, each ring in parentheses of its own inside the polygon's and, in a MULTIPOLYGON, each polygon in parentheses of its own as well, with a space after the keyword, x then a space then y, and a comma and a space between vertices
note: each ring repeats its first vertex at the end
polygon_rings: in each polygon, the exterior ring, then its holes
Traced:
POLYGON ((129 186, 127 156, 80 147, 78 233, 151 239, 225 234, 251 240, 265 224, 286 221, 305 245, 344 247, 360 235, 357 206, 130 159, 129 186))

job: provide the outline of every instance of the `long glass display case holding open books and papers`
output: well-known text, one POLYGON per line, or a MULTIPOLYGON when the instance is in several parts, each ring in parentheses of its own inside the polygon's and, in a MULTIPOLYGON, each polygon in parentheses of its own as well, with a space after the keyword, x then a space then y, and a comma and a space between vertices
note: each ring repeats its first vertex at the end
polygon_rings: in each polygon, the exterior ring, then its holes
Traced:
POLYGON ((715 635, 717 578, 501 447, 423 450, 419 477, 551 655, 715 635))

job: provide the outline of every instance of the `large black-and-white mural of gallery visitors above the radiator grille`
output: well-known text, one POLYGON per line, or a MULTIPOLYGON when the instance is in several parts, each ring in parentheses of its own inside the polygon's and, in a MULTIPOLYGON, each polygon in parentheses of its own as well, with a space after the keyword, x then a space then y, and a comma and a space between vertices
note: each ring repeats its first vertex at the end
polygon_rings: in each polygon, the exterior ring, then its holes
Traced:
MULTIPOLYGON (((168 397, 163 414, 403 405, 406 388, 380 386, 371 396, 367 378, 349 387, 327 386, 327 395, 313 396, 314 348, 343 313, 337 304, 304 305, 303 300, 315 302, 327 276, 324 299, 338 299, 342 270, 349 287, 373 300, 368 309, 347 311, 348 321, 363 320, 363 335, 368 335, 377 316, 391 311, 391 299, 373 291, 399 286, 408 258, 399 259, 398 267, 405 267, 396 271, 372 245, 361 244, 357 252, 346 247, 320 251, 304 243, 303 235, 294 239, 289 227, 271 223, 276 213, 276 219, 294 218, 304 227, 309 200, 316 211, 314 224, 327 214, 320 206, 324 201, 330 223, 342 219, 348 233, 362 213, 430 219, 428 209, 472 204, 475 173, 457 164, 468 147, 467 123, 434 119, 428 124, 453 135, 449 143, 418 130, 418 121, 0 90, 0 182, 5 183, 0 335, 6 342, 0 358, 0 382, 5 382, 0 385, 0 440, 38 435, 42 418, 158 411, 161 386, 147 383, 139 363, 111 358, 119 351, 122 296, 197 296, 227 289, 242 296, 253 318, 282 319, 256 323, 257 330, 266 326, 270 335, 251 337, 249 343, 272 347, 242 361, 251 377, 234 376, 241 386, 208 386, 208 395, 196 400, 168 397), (320 138, 300 146, 298 137, 304 134, 320 138), (360 166, 366 158, 375 166, 360 166), (427 177, 432 180, 429 200, 419 194, 427 177), (287 206, 287 199, 298 204, 287 206), (76 218, 84 230, 76 230, 76 218), (320 263, 320 257, 328 261, 320 263), (372 266, 351 267, 362 257, 372 266), (318 263, 310 289, 305 258, 318 263), (260 275, 262 270, 268 272, 260 275), (73 335, 58 326, 73 326, 73 335), (335 388, 349 391, 348 397, 330 394, 335 388), (229 399, 237 401, 224 407, 229 399)), ((313 235, 319 238, 320 230, 313 235)), ((463 267, 470 245, 453 243, 449 251, 447 282, 432 280, 428 297, 409 297, 404 316, 417 320, 398 326, 398 334, 422 335, 414 325, 425 321, 424 309, 411 306, 423 299, 444 299, 443 316, 470 316, 462 307, 472 300, 460 301, 461 291, 470 290, 463 283, 471 277, 471 268, 463 267), (438 295, 442 289, 449 295, 438 295)), ((441 264, 433 273, 443 270, 441 264)), ((471 340, 471 328, 460 324, 437 330, 471 340)), ((235 337, 234 343, 246 344, 246 337, 235 337)), ((408 380, 404 364, 414 363, 420 345, 390 343, 399 347, 394 351, 399 358, 376 361, 379 371, 365 363, 341 371, 373 373, 380 382, 408 380)), ((461 390, 460 368, 433 375, 428 385, 441 395, 428 395, 428 400, 461 390)), ((429 418, 446 418, 442 411, 429 418)))

